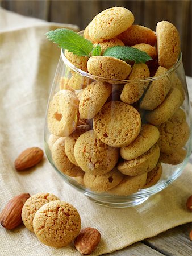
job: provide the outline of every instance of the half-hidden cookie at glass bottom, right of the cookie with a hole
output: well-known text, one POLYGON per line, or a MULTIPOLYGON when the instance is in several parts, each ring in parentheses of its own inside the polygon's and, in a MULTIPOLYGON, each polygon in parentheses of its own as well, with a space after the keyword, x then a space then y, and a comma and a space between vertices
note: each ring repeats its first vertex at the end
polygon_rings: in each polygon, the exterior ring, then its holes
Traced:
POLYGON ((128 196, 143 188, 146 179, 147 173, 137 176, 124 176, 123 180, 116 187, 107 192, 118 196, 128 196))

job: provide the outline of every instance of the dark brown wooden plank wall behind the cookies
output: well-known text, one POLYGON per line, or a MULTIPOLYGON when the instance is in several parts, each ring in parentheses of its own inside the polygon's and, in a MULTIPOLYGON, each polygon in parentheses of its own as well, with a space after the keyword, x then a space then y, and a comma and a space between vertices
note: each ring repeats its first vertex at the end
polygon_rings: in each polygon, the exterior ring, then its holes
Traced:
POLYGON ((50 22, 77 24, 84 29, 100 11, 122 6, 135 15, 135 24, 156 30, 156 23, 168 20, 180 32, 183 65, 186 75, 192 76, 192 1, 191 0, 0 0, 0 6, 16 13, 50 22))

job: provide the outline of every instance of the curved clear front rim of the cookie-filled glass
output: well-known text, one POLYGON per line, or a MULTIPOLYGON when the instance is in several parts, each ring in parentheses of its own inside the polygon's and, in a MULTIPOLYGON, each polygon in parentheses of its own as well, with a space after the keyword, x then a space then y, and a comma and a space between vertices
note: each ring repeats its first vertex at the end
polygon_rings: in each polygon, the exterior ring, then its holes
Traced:
MULTIPOLYGON (((80 31, 78 32, 78 34, 82 34, 84 31, 80 31)), ((165 73, 163 73, 160 76, 152 76, 152 77, 148 77, 146 79, 110 79, 110 78, 106 78, 106 77, 101 77, 101 76, 95 76, 95 75, 91 75, 90 73, 87 73, 85 71, 83 71, 82 69, 77 68, 75 65, 73 65, 68 59, 66 59, 65 54, 64 54, 64 49, 61 48, 61 58, 63 63, 69 67, 70 69, 72 69, 74 72, 78 73, 81 76, 85 76, 89 79, 93 79, 93 80, 103 80, 106 82, 107 81, 111 81, 112 84, 122 84, 122 83, 129 83, 129 82, 151 82, 154 80, 158 80, 158 79, 162 79, 162 77, 168 76, 170 74, 172 74, 177 68, 178 66, 181 64, 182 61, 182 53, 180 51, 180 55, 178 56, 177 62, 172 66, 172 68, 168 69, 168 71, 166 71, 165 73)))

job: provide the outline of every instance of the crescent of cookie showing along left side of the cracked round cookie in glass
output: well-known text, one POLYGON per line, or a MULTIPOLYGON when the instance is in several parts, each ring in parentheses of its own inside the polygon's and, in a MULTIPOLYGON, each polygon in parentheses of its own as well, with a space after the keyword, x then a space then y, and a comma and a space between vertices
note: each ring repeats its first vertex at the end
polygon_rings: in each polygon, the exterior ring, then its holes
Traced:
POLYGON ((80 125, 77 126, 77 129, 73 131, 72 134, 70 134, 69 137, 65 138, 65 153, 70 162, 78 166, 76 159, 74 158, 74 144, 76 144, 76 141, 78 137, 80 137, 81 134, 85 133, 86 131, 90 130, 89 125, 80 125))

